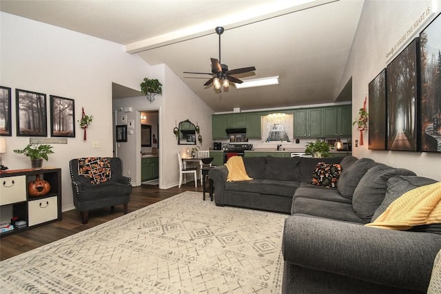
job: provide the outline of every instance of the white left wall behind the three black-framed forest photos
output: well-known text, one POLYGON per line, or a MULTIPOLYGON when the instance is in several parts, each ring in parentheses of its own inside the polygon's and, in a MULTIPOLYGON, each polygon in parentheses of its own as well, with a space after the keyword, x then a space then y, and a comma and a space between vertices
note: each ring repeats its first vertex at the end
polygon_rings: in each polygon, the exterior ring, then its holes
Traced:
MULTIPOLYGON (((81 107, 94 116, 87 141, 75 123, 76 138, 53 145, 55 153, 43 162, 45 167, 61 167, 63 211, 72 209, 69 160, 112 156, 112 82, 136 89, 150 75, 150 66, 116 43, 3 12, 0 21, 0 84, 12 88, 12 136, 5 137, 3 163, 10 169, 30 167, 28 157, 12 151, 29 143, 29 137, 17 137, 15 89, 47 94, 47 102, 50 94, 74 99, 75 121, 81 118, 81 107), (93 141, 99 141, 99 149, 92 148, 93 141)), ((48 125, 49 119, 48 107, 48 125)))

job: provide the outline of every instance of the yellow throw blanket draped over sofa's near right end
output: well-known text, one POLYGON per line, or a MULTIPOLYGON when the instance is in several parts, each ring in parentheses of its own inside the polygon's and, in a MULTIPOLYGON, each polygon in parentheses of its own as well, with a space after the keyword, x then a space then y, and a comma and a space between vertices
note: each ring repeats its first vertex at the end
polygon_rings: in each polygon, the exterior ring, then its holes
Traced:
POLYGON ((437 223, 441 223, 441 182, 407 191, 366 226, 407 230, 422 224, 437 223))

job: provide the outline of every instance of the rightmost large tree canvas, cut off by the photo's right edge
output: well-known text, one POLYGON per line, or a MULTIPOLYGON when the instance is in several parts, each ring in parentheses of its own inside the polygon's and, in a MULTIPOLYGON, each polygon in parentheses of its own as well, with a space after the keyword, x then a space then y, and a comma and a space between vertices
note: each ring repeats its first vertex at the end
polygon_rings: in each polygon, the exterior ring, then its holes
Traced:
POLYGON ((441 152, 441 17, 420 34, 421 151, 441 152))

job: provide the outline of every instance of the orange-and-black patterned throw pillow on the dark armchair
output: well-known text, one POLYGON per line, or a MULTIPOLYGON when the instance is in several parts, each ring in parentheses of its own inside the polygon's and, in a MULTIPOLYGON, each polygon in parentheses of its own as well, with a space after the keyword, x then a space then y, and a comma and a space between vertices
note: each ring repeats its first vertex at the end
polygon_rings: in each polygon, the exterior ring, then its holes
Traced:
POLYGON ((78 158, 78 174, 90 178, 92 185, 111 178, 110 160, 107 157, 78 158))

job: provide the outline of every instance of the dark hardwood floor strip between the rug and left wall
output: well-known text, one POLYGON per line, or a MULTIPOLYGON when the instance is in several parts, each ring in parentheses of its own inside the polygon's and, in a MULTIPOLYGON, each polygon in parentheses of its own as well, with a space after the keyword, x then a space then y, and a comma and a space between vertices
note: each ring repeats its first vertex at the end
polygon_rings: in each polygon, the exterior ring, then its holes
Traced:
MULTIPOLYGON (((181 188, 176 186, 170 189, 158 189, 158 185, 141 185, 139 187, 133 187, 128 207, 129 213, 178 193, 182 193, 183 191, 201 192, 202 187, 200 184, 201 182, 198 182, 197 188, 194 187, 194 182, 184 184, 181 188)), ((110 207, 107 209, 91 211, 89 213, 88 224, 83 224, 81 222, 80 213, 79 211, 76 211, 76 209, 65 211, 63 212, 63 220, 59 222, 52 222, 35 229, 1 238, 0 260, 12 258, 12 256, 60 240, 73 235, 74 233, 90 229, 98 224, 107 222, 108 220, 118 218, 119 216, 123 216, 123 205, 117 205, 114 213, 111 213, 110 207)))

